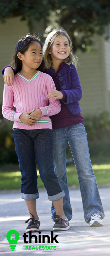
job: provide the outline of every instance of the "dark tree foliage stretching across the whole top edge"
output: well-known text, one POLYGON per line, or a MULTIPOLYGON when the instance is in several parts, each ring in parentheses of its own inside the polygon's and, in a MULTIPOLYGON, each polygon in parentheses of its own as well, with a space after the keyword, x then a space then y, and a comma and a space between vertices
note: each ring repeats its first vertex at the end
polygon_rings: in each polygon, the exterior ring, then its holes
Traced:
POLYGON ((109 38, 110 0, 0 0, 1 22, 21 16, 32 28, 35 20, 47 20, 50 11, 54 11, 59 25, 69 33, 74 51, 87 50, 96 33, 109 38))

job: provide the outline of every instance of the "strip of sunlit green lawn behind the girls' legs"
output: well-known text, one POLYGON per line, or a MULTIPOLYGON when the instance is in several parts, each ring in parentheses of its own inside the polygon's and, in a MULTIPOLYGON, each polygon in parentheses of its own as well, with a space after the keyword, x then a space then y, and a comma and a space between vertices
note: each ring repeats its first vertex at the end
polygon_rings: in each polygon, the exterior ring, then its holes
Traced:
MULTIPOLYGON (((92 165, 92 167, 93 167, 98 185, 110 184, 110 163, 94 164, 92 165)), ((7 165, 7 166, 4 166, 2 169, 0 169, 0 190, 20 189, 21 173, 20 171, 18 171, 18 169, 19 169, 18 165, 15 167, 13 167, 13 165, 7 165)), ((42 188, 44 187, 44 184, 40 178, 38 170, 37 170, 37 175, 38 175, 38 187, 42 188)), ((67 181, 68 181, 68 186, 73 186, 73 185, 79 186, 76 167, 74 164, 67 165, 67 181)))

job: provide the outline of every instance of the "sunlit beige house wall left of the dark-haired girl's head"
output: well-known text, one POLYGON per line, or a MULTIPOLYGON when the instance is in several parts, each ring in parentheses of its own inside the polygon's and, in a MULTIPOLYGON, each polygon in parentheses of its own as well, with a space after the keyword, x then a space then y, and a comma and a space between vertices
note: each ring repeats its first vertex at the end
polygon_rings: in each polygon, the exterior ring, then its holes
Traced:
POLYGON ((12 61, 14 47, 21 36, 28 33, 26 21, 21 21, 20 17, 10 18, 2 24, 0 23, 0 103, 3 99, 4 80, 1 71, 12 61))

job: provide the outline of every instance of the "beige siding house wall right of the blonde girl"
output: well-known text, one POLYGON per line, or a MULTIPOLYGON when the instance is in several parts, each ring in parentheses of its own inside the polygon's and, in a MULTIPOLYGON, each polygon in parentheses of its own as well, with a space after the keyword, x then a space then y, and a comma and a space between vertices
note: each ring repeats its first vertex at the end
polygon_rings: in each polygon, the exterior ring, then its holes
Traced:
POLYGON ((83 116, 97 115, 108 110, 103 44, 103 38, 96 36, 93 52, 77 51, 76 53, 80 64, 77 65, 77 71, 82 85, 83 95, 80 105, 83 116))

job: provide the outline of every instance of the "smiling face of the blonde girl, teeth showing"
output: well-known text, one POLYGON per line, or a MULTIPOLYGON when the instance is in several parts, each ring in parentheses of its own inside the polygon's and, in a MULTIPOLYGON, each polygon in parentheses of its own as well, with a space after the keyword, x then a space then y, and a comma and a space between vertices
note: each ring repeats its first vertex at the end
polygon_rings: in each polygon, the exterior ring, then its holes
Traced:
POLYGON ((57 36, 50 46, 49 54, 51 55, 52 61, 59 60, 62 62, 69 56, 70 46, 66 36, 57 36))

